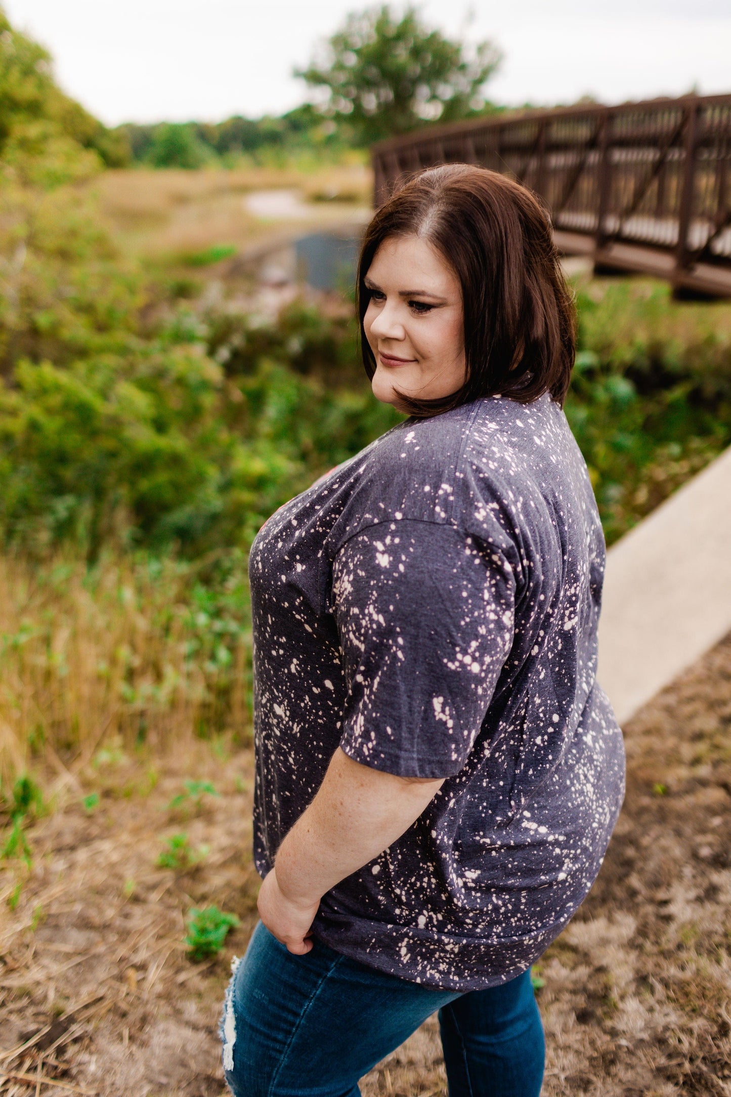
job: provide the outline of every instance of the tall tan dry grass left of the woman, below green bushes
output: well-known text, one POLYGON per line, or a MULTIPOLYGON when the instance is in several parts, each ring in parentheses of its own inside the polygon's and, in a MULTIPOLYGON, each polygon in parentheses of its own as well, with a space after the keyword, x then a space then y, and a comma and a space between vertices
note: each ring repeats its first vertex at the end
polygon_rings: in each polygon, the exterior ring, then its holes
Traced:
MULTIPOLYGON (((195 573, 193 572, 193 576, 195 573)), ((191 568, 106 559, 33 566, 0 557, 0 778, 41 761, 83 767, 102 738, 152 747, 217 715, 248 721, 248 645, 233 665, 207 659, 209 624, 191 607, 191 568), (225 681, 221 682, 221 674, 225 681)))

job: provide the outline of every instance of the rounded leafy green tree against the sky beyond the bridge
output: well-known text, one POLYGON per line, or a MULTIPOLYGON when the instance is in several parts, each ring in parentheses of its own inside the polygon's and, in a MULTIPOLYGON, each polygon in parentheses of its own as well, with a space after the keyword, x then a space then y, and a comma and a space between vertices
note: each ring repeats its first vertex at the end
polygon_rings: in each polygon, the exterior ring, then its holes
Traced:
POLYGON ((484 105, 482 87, 500 50, 429 30, 415 8, 399 18, 389 5, 347 16, 319 58, 295 75, 323 94, 321 111, 345 121, 367 144, 425 122, 453 122, 484 105))

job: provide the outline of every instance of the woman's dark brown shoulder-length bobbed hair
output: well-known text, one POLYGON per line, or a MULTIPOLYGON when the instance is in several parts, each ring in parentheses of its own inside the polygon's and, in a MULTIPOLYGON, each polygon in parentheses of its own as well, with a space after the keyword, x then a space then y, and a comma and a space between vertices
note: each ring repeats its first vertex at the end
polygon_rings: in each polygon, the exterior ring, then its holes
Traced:
POLYGON ((487 168, 450 163, 408 180, 368 225, 358 262, 361 348, 368 377, 376 361, 363 319, 364 279, 389 237, 421 236, 461 285, 465 383, 439 399, 401 398, 414 416, 438 415, 498 394, 527 404, 545 392, 561 406, 575 352, 575 307, 547 212, 525 186, 487 168))

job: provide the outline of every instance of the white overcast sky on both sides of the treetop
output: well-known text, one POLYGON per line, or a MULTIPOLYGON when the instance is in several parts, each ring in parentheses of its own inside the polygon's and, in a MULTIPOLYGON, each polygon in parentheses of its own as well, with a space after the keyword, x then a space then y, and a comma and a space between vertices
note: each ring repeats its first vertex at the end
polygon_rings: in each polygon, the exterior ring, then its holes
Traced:
MULTIPOLYGON (((107 124, 281 113, 292 76, 357 0, 0 0, 64 86, 107 124)), ((425 0, 449 35, 491 38, 503 103, 731 91, 731 0, 425 0), (472 10, 472 20, 468 13, 472 10)))

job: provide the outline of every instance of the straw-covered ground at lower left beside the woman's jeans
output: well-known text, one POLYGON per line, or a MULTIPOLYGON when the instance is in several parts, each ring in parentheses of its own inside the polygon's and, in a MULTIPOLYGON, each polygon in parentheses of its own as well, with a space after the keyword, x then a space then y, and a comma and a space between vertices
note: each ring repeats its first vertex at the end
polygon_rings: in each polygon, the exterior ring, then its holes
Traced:
MULTIPOLYGON (((210 902, 236 911, 241 926, 229 940, 244 948, 258 880, 243 777, 251 760, 187 739, 156 764, 164 770, 157 782, 149 757, 119 749, 77 769, 64 808, 31 833, 33 867, 18 861, 4 875, 0 1078, 11 1076, 3 1097, 34 1094, 36 1073, 110 1097, 224 1089, 216 1026, 228 965, 187 959, 184 916, 210 902), (207 779, 220 795, 171 808, 185 778, 207 779), (100 802, 87 812, 80 798, 90 792, 100 802), (180 832, 209 847, 204 862, 186 872, 158 868, 163 839, 180 832), (28 1073, 31 1082, 18 1077, 28 1073)), ((43 1090, 68 1092, 48 1083, 43 1090)))

